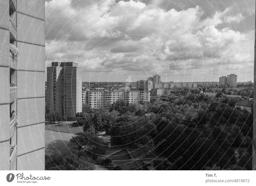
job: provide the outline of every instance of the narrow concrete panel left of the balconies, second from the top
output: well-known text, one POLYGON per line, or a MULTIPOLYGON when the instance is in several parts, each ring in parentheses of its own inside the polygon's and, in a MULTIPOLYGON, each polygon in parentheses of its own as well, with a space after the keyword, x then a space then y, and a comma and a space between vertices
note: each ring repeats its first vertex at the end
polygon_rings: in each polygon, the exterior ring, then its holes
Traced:
MULTIPOLYGON (((0 12, 0 18, 1 18, 1 12, 0 12)), ((0 28, 0 66, 9 66, 9 56, 10 56, 10 32, 9 30, 4 30, 0 28)))

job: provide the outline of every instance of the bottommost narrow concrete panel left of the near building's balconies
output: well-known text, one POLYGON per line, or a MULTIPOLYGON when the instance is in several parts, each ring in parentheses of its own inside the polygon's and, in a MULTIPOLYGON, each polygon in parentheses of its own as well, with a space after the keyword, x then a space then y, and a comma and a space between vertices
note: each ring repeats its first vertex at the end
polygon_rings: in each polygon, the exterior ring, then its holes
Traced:
POLYGON ((0 170, 10 170, 10 142, 0 143, 0 170))

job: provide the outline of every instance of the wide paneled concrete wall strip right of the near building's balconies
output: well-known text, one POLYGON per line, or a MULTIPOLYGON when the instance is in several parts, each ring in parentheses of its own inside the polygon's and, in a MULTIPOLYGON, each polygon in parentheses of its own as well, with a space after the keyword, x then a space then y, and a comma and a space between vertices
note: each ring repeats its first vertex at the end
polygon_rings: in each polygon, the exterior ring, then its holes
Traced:
POLYGON ((44 170, 44 1, 29 6, 28 2, 18 0, 17 8, 17 169, 44 170))

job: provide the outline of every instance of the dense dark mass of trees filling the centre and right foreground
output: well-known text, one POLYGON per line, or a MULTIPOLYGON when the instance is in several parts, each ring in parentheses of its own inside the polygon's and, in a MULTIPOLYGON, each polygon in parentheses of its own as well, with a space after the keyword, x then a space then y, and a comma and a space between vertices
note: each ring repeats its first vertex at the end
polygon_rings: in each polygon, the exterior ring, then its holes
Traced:
POLYGON ((157 148, 159 154, 170 161, 182 155, 172 170, 252 169, 252 114, 235 107, 238 98, 224 97, 226 89, 214 88, 216 97, 200 94, 200 90, 213 91, 175 88, 177 97, 164 101, 129 105, 117 100, 102 109, 84 105, 83 112, 76 115, 77 123, 84 126, 84 133, 75 140, 79 142, 76 150, 90 145, 92 152, 86 155, 96 160, 106 151, 106 144, 97 142, 97 136, 93 140, 88 136, 105 130, 111 144, 117 146, 151 146, 166 139, 157 148))

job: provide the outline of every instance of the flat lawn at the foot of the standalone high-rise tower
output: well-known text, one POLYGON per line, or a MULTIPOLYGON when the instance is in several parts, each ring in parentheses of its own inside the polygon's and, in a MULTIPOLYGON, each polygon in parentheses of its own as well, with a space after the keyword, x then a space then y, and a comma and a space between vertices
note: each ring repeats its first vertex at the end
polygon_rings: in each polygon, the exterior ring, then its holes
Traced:
POLYGON ((49 123, 45 125, 45 129, 52 130, 52 131, 58 131, 58 132, 66 132, 70 134, 77 134, 83 132, 83 126, 77 126, 73 125, 75 121, 60 121, 59 126, 57 126, 55 123, 49 123), (63 126, 60 126, 63 125, 63 126))

